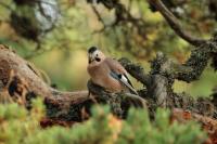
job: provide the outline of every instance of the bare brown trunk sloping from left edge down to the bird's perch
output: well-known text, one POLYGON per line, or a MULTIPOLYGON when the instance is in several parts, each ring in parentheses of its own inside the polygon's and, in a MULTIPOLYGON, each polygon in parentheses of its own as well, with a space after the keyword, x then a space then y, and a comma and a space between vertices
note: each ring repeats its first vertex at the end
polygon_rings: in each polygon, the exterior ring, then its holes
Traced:
POLYGON ((65 103, 80 103, 88 100, 88 91, 61 92, 50 88, 27 61, 0 44, 0 91, 3 89, 9 90, 10 96, 34 93, 50 101, 65 101, 65 103), (13 83, 14 81, 16 82, 13 83))

